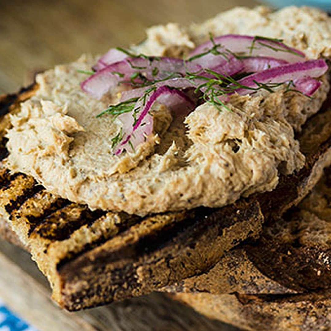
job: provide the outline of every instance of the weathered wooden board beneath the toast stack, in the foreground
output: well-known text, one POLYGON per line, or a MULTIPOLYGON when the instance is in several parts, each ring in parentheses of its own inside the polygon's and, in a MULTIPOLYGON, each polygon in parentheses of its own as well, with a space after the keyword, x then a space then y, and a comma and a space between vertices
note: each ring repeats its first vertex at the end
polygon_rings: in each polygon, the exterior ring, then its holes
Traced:
POLYGON ((238 330, 161 293, 74 313, 58 308, 50 295, 48 283, 30 255, 0 240, 0 298, 40 331, 238 330))

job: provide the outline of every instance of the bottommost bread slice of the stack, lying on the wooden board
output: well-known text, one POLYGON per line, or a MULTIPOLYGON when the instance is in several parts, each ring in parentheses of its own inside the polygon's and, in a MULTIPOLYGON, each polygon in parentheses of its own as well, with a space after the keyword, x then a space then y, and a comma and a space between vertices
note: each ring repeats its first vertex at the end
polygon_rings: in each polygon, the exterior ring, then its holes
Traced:
POLYGON ((181 293, 174 298, 245 330, 330 330, 330 290, 297 295, 181 293))

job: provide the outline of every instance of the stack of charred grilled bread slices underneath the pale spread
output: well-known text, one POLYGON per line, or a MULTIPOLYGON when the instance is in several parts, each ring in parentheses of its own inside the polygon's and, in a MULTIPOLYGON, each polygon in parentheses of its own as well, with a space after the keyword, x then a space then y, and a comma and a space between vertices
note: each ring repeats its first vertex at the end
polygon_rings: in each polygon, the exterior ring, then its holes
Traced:
MULTIPOLYGON (((9 114, 38 89, 0 99, 0 158, 9 114)), ((75 311, 170 293, 245 329, 331 328, 331 103, 296 138, 304 167, 277 187, 222 208, 144 217, 90 210, 0 168, 0 235, 31 253, 54 301, 75 311)))

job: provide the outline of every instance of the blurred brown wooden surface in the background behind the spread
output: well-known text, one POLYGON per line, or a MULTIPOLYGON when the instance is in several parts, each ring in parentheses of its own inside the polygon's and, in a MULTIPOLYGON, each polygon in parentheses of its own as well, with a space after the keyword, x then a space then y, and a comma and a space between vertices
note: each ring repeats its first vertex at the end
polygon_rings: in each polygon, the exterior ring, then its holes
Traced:
POLYGON ((154 24, 201 22, 254 0, 0 0, 0 94, 27 84, 32 73, 128 46, 154 24))

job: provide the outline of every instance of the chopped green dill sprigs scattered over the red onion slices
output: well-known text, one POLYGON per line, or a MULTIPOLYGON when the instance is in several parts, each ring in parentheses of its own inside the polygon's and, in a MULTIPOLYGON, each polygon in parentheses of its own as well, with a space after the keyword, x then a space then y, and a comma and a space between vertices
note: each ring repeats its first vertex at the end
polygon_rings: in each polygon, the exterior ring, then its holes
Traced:
MULTIPOLYGON (((227 96, 235 93, 237 90, 245 89, 250 90, 252 92, 256 92, 258 90, 266 90, 270 93, 274 92, 274 88, 281 86, 283 84, 286 84, 285 86, 285 92, 289 91, 296 91, 299 93, 302 93, 300 91, 295 90, 295 84, 291 80, 289 82, 281 82, 281 83, 260 83, 256 80, 254 80, 255 86, 246 86, 242 83, 240 83, 240 80, 238 80, 238 77, 236 79, 235 77, 226 76, 223 74, 220 74, 216 71, 213 71, 211 69, 203 69, 197 72, 190 72, 186 68, 186 61, 190 62, 195 59, 201 58, 208 54, 213 55, 221 55, 226 60, 229 60, 229 55, 236 57, 237 59, 243 59, 247 58, 252 55, 253 50, 256 49, 256 45, 261 45, 264 47, 269 47, 275 52, 283 51, 283 52, 289 52, 296 54, 298 56, 301 56, 300 54, 296 53, 295 51, 292 51, 291 49, 287 49, 285 46, 277 44, 278 42, 282 42, 281 39, 272 39, 267 37, 261 37, 261 36, 255 36, 252 40, 252 44, 249 47, 249 52, 247 54, 236 54, 231 52, 228 49, 225 49, 224 46, 221 44, 217 44, 215 40, 213 39, 212 34, 210 34, 210 40, 212 42, 212 47, 200 54, 196 54, 189 59, 184 59, 184 68, 185 68, 185 74, 183 75, 180 72, 162 72, 162 74, 165 74, 164 78, 161 79, 154 79, 150 80, 145 77, 145 75, 140 72, 140 70, 147 69, 147 67, 138 67, 134 66, 130 60, 127 60, 131 68, 137 69, 138 71, 135 71, 131 74, 129 81, 121 81, 120 83, 130 83, 134 87, 148 87, 141 96, 128 99, 126 101, 120 102, 117 105, 111 105, 106 110, 101 112, 97 117, 100 117, 104 114, 110 114, 114 116, 114 119, 117 118, 119 115, 124 113, 131 113, 133 117, 133 126, 137 123, 137 118, 139 115, 139 111, 146 105, 146 102, 151 94, 151 92, 155 91, 157 89, 157 83, 166 81, 171 78, 186 78, 190 81, 192 81, 195 84, 195 93, 201 93, 201 96, 199 96, 199 99, 204 100, 205 102, 208 102, 212 104, 214 107, 216 107, 219 111, 222 111, 223 109, 226 109, 230 112, 232 112, 232 109, 226 105, 227 96), (265 41, 271 41, 274 42, 274 44, 268 44, 263 42, 265 41), (204 74, 208 73, 211 75, 211 77, 206 77, 204 74), (197 83, 198 82, 198 83, 197 83), (293 88, 294 87, 294 88, 293 88)), ((133 54, 132 52, 125 50, 123 48, 117 47, 117 50, 127 54, 131 58, 144 58, 148 59, 150 61, 149 65, 152 66, 152 62, 154 60, 160 60, 160 58, 157 57, 149 57, 144 54, 133 54)), ((152 76, 158 76, 160 74, 160 70, 157 67, 154 67, 152 70, 152 76)), ((93 74, 94 72, 90 71, 79 71, 86 74, 93 74)), ((123 77, 124 74, 120 72, 113 72, 114 74, 118 74, 120 77, 123 77)), ((240 77, 242 78, 242 77, 240 77)), ((239 78, 239 79, 240 79, 239 78)), ((166 85, 166 83, 165 83, 166 85)), ((141 126, 145 125, 146 122, 141 123, 141 126)), ((134 137, 134 135, 132 134, 134 137)), ((112 138, 112 148, 114 148, 116 145, 119 144, 120 141, 122 141, 124 137, 123 128, 120 129, 118 134, 112 138)), ((134 146, 130 140, 128 140, 128 145, 131 147, 132 151, 135 152, 134 146)))

